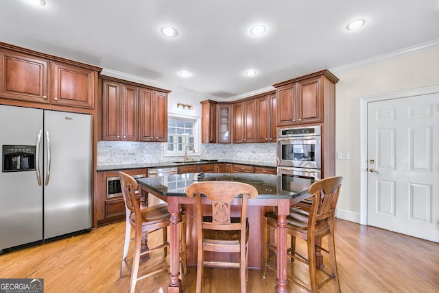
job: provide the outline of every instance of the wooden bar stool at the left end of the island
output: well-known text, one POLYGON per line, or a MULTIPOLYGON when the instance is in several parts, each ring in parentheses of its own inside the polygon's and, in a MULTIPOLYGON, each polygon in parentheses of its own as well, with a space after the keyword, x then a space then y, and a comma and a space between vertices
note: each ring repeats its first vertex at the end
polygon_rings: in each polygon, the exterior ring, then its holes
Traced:
MULTIPOLYGON (((163 270, 168 270, 169 265, 164 264, 160 268, 146 268, 146 272, 144 275, 138 276, 139 273, 139 264, 141 260, 141 256, 147 255, 152 251, 157 249, 164 249, 165 255, 167 254, 167 247, 169 246, 169 242, 167 242, 167 227, 170 225, 169 217, 171 216, 169 212, 167 212, 167 204, 159 204, 154 205, 152 207, 146 207, 141 209, 140 203, 137 200, 136 194, 134 190, 137 190, 137 181, 132 176, 119 172, 121 177, 121 187, 123 200, 125 201, 126 207, 126 232, 125 232, 125 244, 123 246, 123 257, 122 257, 122 265, 120 277, 123 277, 123 272, 125 271, 126 266, 131 271, 131 280, 130 280, 130 292, 133 293, 136 288, 137 281, 144 279, 146 277, 150 277, 151 275, 156 274, 157 272, 161 272, 163 270), (130 239, 131 229, 134 229, 134 238, 130 239), (152 248, 147 248, 146 250, 141 252, 141 242, 143 233, 152 233, 154 231, 158 231, 163 229, 163 243, 158 246, 154 246, 152 248), (134 255, 132 259, 128 259, 128 249, 130 246, 130 240, 134 240, 134 255)), ((183 273, 187 272, 187 264, 186 264, 186 215, 180 213, 179 214, 179 222, 180 222, 180 235, 182 235, 180 239, 180 255, 182 262, 182 271, 183 273)), ((147 263, 146 263, 147 264, 147 263)))

